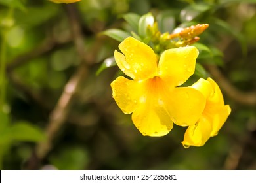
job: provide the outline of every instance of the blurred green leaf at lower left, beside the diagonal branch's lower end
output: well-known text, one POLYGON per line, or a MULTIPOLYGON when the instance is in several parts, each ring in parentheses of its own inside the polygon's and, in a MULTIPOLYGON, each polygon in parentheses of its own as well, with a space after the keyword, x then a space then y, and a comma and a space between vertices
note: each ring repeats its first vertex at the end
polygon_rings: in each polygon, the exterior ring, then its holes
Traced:
POLYGON ((9 130, 10 138, 14 141, 39 142, 45 139, 45 135, 41 129, 28 122, 17 122, 9 130))

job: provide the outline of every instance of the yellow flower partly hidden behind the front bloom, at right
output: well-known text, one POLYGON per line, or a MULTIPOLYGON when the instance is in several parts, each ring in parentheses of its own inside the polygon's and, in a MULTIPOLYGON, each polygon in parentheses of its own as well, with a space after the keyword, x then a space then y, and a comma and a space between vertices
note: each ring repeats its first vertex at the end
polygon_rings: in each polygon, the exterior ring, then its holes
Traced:
POLYGON ((200 78, 191 87, 202 92, 206 105, 198 122, 190 125, 185 132, 182 144, 186 148, 203 146, 210 137, 217 135, 231 112, 229 105, 224 105, 219 86, 211 78, 200 78))

